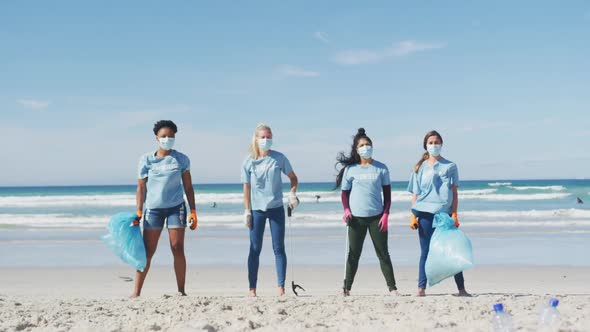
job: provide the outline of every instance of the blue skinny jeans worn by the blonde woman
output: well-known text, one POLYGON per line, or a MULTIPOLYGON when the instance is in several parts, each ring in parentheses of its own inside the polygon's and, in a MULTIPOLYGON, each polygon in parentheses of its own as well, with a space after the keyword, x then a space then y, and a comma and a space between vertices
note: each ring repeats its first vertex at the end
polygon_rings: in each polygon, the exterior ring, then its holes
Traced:
POLYGON ((278 207, 267 211, 252 211, 252 229, 250 230, 250 254, 248 254, 248 281, 250 288, 256 288, 258 266, 266 219, 269 220, 272 236, 272 249, 275 253, 277 279, 279 287, 285 287, 287 274, 287 254, 285 253, 285 208, 278 207))

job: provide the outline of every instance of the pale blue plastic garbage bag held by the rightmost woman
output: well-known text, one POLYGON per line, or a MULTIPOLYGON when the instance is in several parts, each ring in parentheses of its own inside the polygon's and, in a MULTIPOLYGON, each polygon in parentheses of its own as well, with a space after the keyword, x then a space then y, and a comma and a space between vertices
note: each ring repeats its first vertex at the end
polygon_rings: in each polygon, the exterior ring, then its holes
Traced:
POLYGON ((453 218, 446 213, 434 216, 432 227, 436 229, 430 239, 425 266, 430 286, 473 267, 471 241, 454 223, 453 218))

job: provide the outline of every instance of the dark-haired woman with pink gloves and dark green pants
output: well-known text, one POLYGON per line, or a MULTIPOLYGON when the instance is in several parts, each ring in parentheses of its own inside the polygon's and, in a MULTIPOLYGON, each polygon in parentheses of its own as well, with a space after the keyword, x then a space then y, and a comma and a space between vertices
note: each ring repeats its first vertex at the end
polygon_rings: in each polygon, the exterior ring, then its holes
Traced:
POLYGON ((350 155, 346 156, 341 152, 337 160, 336 165, 342 168, 336 177, 336 188, 342 189, 343 219, 348 227, 349 241, 344 295, 350 295, 367 231, 371 235, 389 291, 399 295, 387 248, 391 205, 389 170, 387 166, 373 159, 373 142, 363 128, 359 128, 354 136, 350 155))

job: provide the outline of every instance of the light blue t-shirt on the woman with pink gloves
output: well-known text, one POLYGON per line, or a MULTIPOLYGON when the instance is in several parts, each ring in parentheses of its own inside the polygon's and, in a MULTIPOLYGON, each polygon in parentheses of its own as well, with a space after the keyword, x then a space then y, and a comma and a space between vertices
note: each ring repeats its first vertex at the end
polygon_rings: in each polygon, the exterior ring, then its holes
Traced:
POLYGON ((350 165, 344 169, 342 190, 350 190, 350 211, 356 217, 383 213, 383 186, 390 185, 387 166, 373 160, 370 165, 350 165))

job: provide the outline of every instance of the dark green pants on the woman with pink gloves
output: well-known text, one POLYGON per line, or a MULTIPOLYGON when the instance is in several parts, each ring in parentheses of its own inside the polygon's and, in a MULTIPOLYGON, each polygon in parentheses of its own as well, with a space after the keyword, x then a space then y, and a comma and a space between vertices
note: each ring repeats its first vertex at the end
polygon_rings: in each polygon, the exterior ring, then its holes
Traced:
POLYGON ((383 233, 379 229, 379 219, 381 219, 381 215, 365 218, 353 217, 352 221, 348 223, 348 260, 346 262, 346 279, 344 280, 344 287, 348 290, 352 287, 354 276, 359 267, 367 230, 369 230, 371 240, 373 240, 375 253, 379 258, 381 272, 383 272, 383 276, 387 281, 387 286, 390 291, 397 290, 395 277, 393 276, 393 265, 387 249, 388 233, 383 233))

